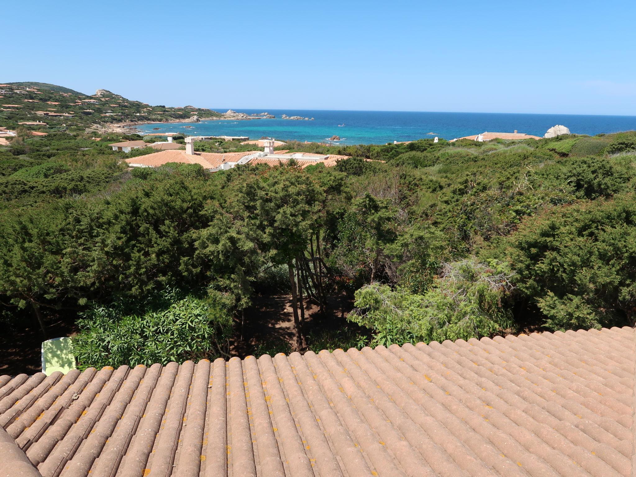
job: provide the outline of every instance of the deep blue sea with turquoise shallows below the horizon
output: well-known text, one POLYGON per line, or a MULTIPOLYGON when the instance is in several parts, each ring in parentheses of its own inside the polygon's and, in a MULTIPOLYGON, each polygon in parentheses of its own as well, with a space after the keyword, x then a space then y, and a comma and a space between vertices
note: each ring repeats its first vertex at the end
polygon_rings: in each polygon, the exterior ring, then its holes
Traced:
MULTIPOLYGON (((227 111, 228 108, 214 108, 227 111)), ((235 109, 240 113, 263 113, 256 109, 235 109)), ((338 144, 384 144, 411 141, 435 135, 453 139, 481 132, 518 132, 542 137, 548 128, 562 124, 572 133, 595 135, 636 130, 636 116, 583 116, 579 114, 511 114, 511 113, 418 113, 408 111, 326 111, 269 109, 276 119, 251 121, 201 121, 200 123, 146 124, 142 132, 183 132, 189 135, 232 135, 259 139, 324 142, 340 136, 338 144), (315 118, 314 121, 282 120, 287 116, 315 118), (343 127, 338 125, 344 124, 343 127), (184 128, 192 125, 195 128, 184 128), (154 128, 159 128, 154 129, 154 128), (433 134, 429 134, 433 133, 433 134)))

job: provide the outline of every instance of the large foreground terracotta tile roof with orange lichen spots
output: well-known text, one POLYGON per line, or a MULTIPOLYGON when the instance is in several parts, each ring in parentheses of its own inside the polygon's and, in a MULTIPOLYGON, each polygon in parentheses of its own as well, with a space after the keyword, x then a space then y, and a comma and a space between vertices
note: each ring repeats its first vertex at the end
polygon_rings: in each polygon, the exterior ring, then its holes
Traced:
POLYGON ((634 343, 612 328, 4 376, 0 469, 629 476, 634 343))

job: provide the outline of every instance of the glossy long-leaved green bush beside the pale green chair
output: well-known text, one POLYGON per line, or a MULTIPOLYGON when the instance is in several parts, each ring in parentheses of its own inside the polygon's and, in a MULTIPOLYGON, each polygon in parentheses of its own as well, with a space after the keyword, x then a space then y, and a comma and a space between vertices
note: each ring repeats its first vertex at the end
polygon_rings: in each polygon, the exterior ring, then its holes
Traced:
POLYGON ((221 296, 166 293, 158 303, 125 314, 129 303, 91 305, 78 320, 73 350, 81 369, 226 357, 232 315, 221 296))

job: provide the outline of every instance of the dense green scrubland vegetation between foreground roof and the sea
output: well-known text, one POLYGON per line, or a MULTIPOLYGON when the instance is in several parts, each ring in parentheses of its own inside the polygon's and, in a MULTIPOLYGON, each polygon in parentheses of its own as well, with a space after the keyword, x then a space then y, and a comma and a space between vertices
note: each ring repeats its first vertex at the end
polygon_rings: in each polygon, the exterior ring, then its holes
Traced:
POLYGON ((255 352, 633 324, 634 132, 290 142, 351 158, 215 174, 127 170, 107 147, 121 137, 0 147, 3 323, 78 321, 82 366, 227 356, 245 310, 279 293, 294 340, 255 352), (333 296, 350 326, 317 335, 303 304, 329 329, 333 296))

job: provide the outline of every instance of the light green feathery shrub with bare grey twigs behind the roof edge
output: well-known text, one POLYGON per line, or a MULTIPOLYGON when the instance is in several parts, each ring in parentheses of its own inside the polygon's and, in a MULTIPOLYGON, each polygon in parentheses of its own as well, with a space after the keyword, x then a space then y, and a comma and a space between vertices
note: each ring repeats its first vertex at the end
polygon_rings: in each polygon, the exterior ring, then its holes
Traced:
POLYGON ((466 259, 447 264, 424 294, 370 284, 356 291, 347 319, 373 333, 372 345, 479 338, 511 326, 502 300, 512 290, 506 263, 466 259))

